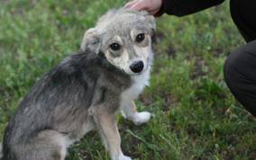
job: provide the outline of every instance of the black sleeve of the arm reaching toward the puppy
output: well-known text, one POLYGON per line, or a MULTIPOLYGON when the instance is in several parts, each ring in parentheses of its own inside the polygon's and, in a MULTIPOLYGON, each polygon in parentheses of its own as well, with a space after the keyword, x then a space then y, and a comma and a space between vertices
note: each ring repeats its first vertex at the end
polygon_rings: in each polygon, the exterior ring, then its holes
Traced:
POLYGON ((190 13, 197 13, 211 6, 221 4, 224 0, 162 0, 160 12, 171 15, 183 16, 190 13))

